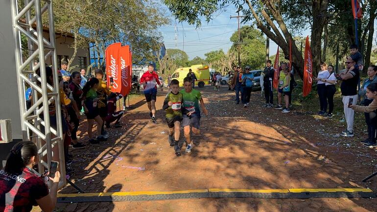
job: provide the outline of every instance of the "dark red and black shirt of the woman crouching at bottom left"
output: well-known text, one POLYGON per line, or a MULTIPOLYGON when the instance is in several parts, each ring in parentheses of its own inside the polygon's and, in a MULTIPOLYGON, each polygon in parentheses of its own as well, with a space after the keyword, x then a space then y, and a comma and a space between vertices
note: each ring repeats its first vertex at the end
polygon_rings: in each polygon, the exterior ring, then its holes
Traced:
POLYGON ((29 168, 19 175, 0 170, 0 212, 30 212, 47 195, 47 185, 29 168))

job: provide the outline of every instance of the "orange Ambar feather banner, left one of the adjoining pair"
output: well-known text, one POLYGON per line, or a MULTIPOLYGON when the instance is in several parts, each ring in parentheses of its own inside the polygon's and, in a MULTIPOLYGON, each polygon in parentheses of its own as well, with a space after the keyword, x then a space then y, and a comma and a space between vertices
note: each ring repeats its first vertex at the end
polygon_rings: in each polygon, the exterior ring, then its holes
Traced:
POLYGON ((110 77, 113 77, 113 86, 111 88, 112 92, 119 92, 121 90, 121 78, 119 71, 119 49, 121 47, 120 43, 111 44, 106 48, 106 79, 107 86, 110 85, 110 77))

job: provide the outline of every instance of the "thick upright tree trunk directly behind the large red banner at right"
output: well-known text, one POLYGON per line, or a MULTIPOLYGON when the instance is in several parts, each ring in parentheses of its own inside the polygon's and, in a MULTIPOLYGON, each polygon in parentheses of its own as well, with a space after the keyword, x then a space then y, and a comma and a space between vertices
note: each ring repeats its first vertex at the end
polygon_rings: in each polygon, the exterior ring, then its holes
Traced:
POLYGON ((328 0, 313 0, 313 26, 311 28, 311 55, 313 58, 313 76, 320 70, 322 32, 327 20, 328 0))

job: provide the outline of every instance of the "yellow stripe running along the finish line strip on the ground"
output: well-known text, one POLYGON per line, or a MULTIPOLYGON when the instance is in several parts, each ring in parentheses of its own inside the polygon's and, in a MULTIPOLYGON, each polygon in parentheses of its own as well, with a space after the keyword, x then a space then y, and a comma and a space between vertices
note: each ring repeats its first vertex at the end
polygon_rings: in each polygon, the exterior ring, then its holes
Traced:
POLYGON ((138 196, 159 194, 182 193, 206 193, 206 192, 244 192, 244 193, 301 193, 301 192, 373 192, 369 188, 289 188, 289 189, 232 189, 209 188, 177 191, 131 191, 131 192, 101 192, 101 193, 71 193, 58 194, 57 197, 95 197, 95 196, 138 196))

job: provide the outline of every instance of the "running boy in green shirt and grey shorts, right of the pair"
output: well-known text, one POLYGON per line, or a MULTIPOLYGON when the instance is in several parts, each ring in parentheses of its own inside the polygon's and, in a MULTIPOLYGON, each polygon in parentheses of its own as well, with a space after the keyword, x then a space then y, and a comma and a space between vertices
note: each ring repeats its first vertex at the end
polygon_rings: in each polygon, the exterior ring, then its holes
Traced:
MULTIPOLYGON (((200 91, 192 89, 192 79, 190 77, 185 77, 183 79, 183 85, 185 89, 181 90, 183 94, 183 104, 182 104, 182 126, 185 133, 185 138, 188 143, 186 147, 186 152, 191 152, 192 144, 190 139, 190 125, 192 126, 192 133, 195 135, 200 135, 200 106, 205 115, 208 115, 207 109, 204 107, 204 101, 200 91)), ((195 142, 195 145, 199 145, 199 141, 195 142)))

